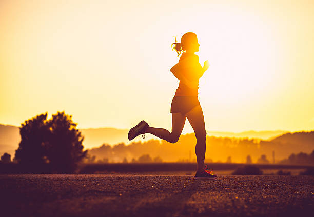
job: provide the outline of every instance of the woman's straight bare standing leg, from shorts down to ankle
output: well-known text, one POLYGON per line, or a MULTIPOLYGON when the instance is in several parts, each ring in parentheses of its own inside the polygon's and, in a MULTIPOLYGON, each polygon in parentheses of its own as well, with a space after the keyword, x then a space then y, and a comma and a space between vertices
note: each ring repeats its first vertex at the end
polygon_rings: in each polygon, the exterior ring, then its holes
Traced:
POLYGON ((197 138, 195 153, 198 160, 198 172, 203 172, 206 151, 206 130, 202 107, 200 105, 194 107, 186 114, 186 117, 189 120, 197 138))

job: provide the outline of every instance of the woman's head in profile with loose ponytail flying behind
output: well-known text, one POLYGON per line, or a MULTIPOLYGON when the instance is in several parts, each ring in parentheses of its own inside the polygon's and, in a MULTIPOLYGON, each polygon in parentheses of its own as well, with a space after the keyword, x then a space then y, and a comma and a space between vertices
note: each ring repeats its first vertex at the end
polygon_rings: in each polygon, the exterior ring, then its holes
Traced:
POLYGON ((198 36, 193 32, 187 32, 181 37, 181 42, 176 42, 175 37, 175 43, 172 43, 172 45, 175 45, 173 49, 175 49, 176 53, 178 53, 178 56, 185 50, 187 52, 197 52, 199 51, 199 41, 198 36))

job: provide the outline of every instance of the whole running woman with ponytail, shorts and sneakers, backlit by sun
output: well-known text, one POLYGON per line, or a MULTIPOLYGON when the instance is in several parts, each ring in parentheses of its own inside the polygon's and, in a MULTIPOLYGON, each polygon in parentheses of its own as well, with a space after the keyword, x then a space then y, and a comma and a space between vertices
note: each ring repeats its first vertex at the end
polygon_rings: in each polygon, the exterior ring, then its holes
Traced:
POLYGON ((215 179, 216 175, 203 168, 206 150, 206 130, 203 110, 198 100, 199 79, 208 69, 209 64, 208 61, 205 61, 204 67, 202 67, 199 63, 199 56, 194 54, 199 51, 200 47, 195 33, 185 33, 181 37, 181 43, 177 43, 175 38, 175 43, 172 43, 172 45, 175 45, 173 49, 178 53, 178 57, 182 54, 179 63, 170 69, 173 75, 180 81, 170 109, 172 113, 172 130, 169 132, 163 128, 150 127, 145 121, 141 121, 130 129, 128 138, 132 140, 140 134, 151 133, 160 139, 175 143, 179 140, 185 119, 187 118, 197 138, 195 153, 197 155, 198 168, 195 177, 197 179, 215 179))

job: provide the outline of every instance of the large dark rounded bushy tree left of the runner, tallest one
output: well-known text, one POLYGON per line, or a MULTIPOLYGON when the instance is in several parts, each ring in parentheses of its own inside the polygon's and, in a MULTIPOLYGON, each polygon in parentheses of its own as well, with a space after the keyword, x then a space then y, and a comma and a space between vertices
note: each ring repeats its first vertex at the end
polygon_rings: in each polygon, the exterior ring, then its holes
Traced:
POLYGON ((83 151, 84 137, 75 129, 72 116, 57 112, 47 119, 47 113, 37 115, 21 125, 21 142, 15 159, 28 170, 36 172, 74 172, 87 155, 83 151), (47 166, 51 171, 44 171, 47 166))

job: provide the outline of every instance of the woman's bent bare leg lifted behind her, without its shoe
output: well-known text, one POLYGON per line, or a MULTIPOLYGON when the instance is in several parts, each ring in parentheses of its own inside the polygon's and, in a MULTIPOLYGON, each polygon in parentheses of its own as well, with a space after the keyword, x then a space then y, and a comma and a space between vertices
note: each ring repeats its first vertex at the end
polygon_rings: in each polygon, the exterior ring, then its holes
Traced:
POLYGON ((147 133, 153 134, 160 139, 166 140, 169 143, 176 143, 179 140, 181 132, 185 124, 186 117, 181 113, 172 113, 172 130, 169 132, 163 128, 148 127, 147 133))

